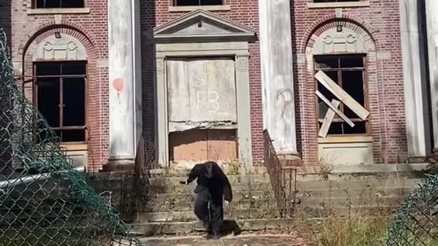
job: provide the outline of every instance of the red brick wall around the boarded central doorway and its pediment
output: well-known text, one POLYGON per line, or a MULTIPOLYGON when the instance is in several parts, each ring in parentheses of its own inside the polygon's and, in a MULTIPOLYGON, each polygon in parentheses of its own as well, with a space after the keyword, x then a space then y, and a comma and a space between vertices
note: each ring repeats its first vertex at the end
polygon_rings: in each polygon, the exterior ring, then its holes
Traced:
MULTIPOLYGON (((142 0, 142 31, 148 32, 186 12, 169 12, 172 0, 142 0)), ((248 0, 227 0, 230 11, 214 12, 255 30, 259 29, 258 2, 248 0)), ((154 140, 154 102, 153 102, 153 46, 151 40, 142 40, 143 60, 143 122, 146 141, 154 140)), ((259 43, 250 44, 250 100, 251 126, 253 132, 253 158, 255 165, 263 159, 263 115, 261 105, 261 72, 259 43)), ((148 152, 146 150, 146 152, 148 152)))

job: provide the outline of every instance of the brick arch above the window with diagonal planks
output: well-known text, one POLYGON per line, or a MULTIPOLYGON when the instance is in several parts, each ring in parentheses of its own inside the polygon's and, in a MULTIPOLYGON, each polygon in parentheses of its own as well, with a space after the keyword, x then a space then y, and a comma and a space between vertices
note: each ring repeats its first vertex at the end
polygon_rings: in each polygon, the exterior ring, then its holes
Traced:
POLYGON ((347 14, 344 14, 342 17, 329 14, 316 20, 307 28, 300 42, 300 53, 305 53, 309 47, 313 47, 316 38, 324 31, 335 28, 339 24, 358 33, 364 40, 365 46, 374 47, 374 50, 370 50, 370 52, 380 49, 380 44, 375 37, 376 31, 368 23, 363 20, 356 20, 355 17, 347 14))

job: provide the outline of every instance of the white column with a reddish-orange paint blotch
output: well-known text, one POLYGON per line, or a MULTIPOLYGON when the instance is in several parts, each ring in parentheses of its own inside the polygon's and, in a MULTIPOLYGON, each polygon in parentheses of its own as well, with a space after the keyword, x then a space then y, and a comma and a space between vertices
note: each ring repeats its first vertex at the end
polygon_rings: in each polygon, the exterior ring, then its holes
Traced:
POLYGON ((131 169, 136 154, 134 1, 108 1, 110 159, 105 169, 131 169))

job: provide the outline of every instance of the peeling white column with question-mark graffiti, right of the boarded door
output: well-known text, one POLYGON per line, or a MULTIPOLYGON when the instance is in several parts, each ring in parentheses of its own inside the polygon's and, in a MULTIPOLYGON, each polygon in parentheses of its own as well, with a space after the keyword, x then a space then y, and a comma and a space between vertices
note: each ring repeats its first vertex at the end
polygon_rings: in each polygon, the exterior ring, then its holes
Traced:
POLYGON ((259 1, 263 127, 279 154, 297 154, 289 0, 259 1))

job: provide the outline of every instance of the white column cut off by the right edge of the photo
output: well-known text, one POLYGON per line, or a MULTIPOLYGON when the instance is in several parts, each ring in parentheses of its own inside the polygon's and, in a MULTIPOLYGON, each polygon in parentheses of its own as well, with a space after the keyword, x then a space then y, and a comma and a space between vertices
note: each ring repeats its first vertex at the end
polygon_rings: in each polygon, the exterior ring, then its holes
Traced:
POLYGON ((433 150, 438 152, 438 1, 426 0, 426 28, 432 101, 433 150))

